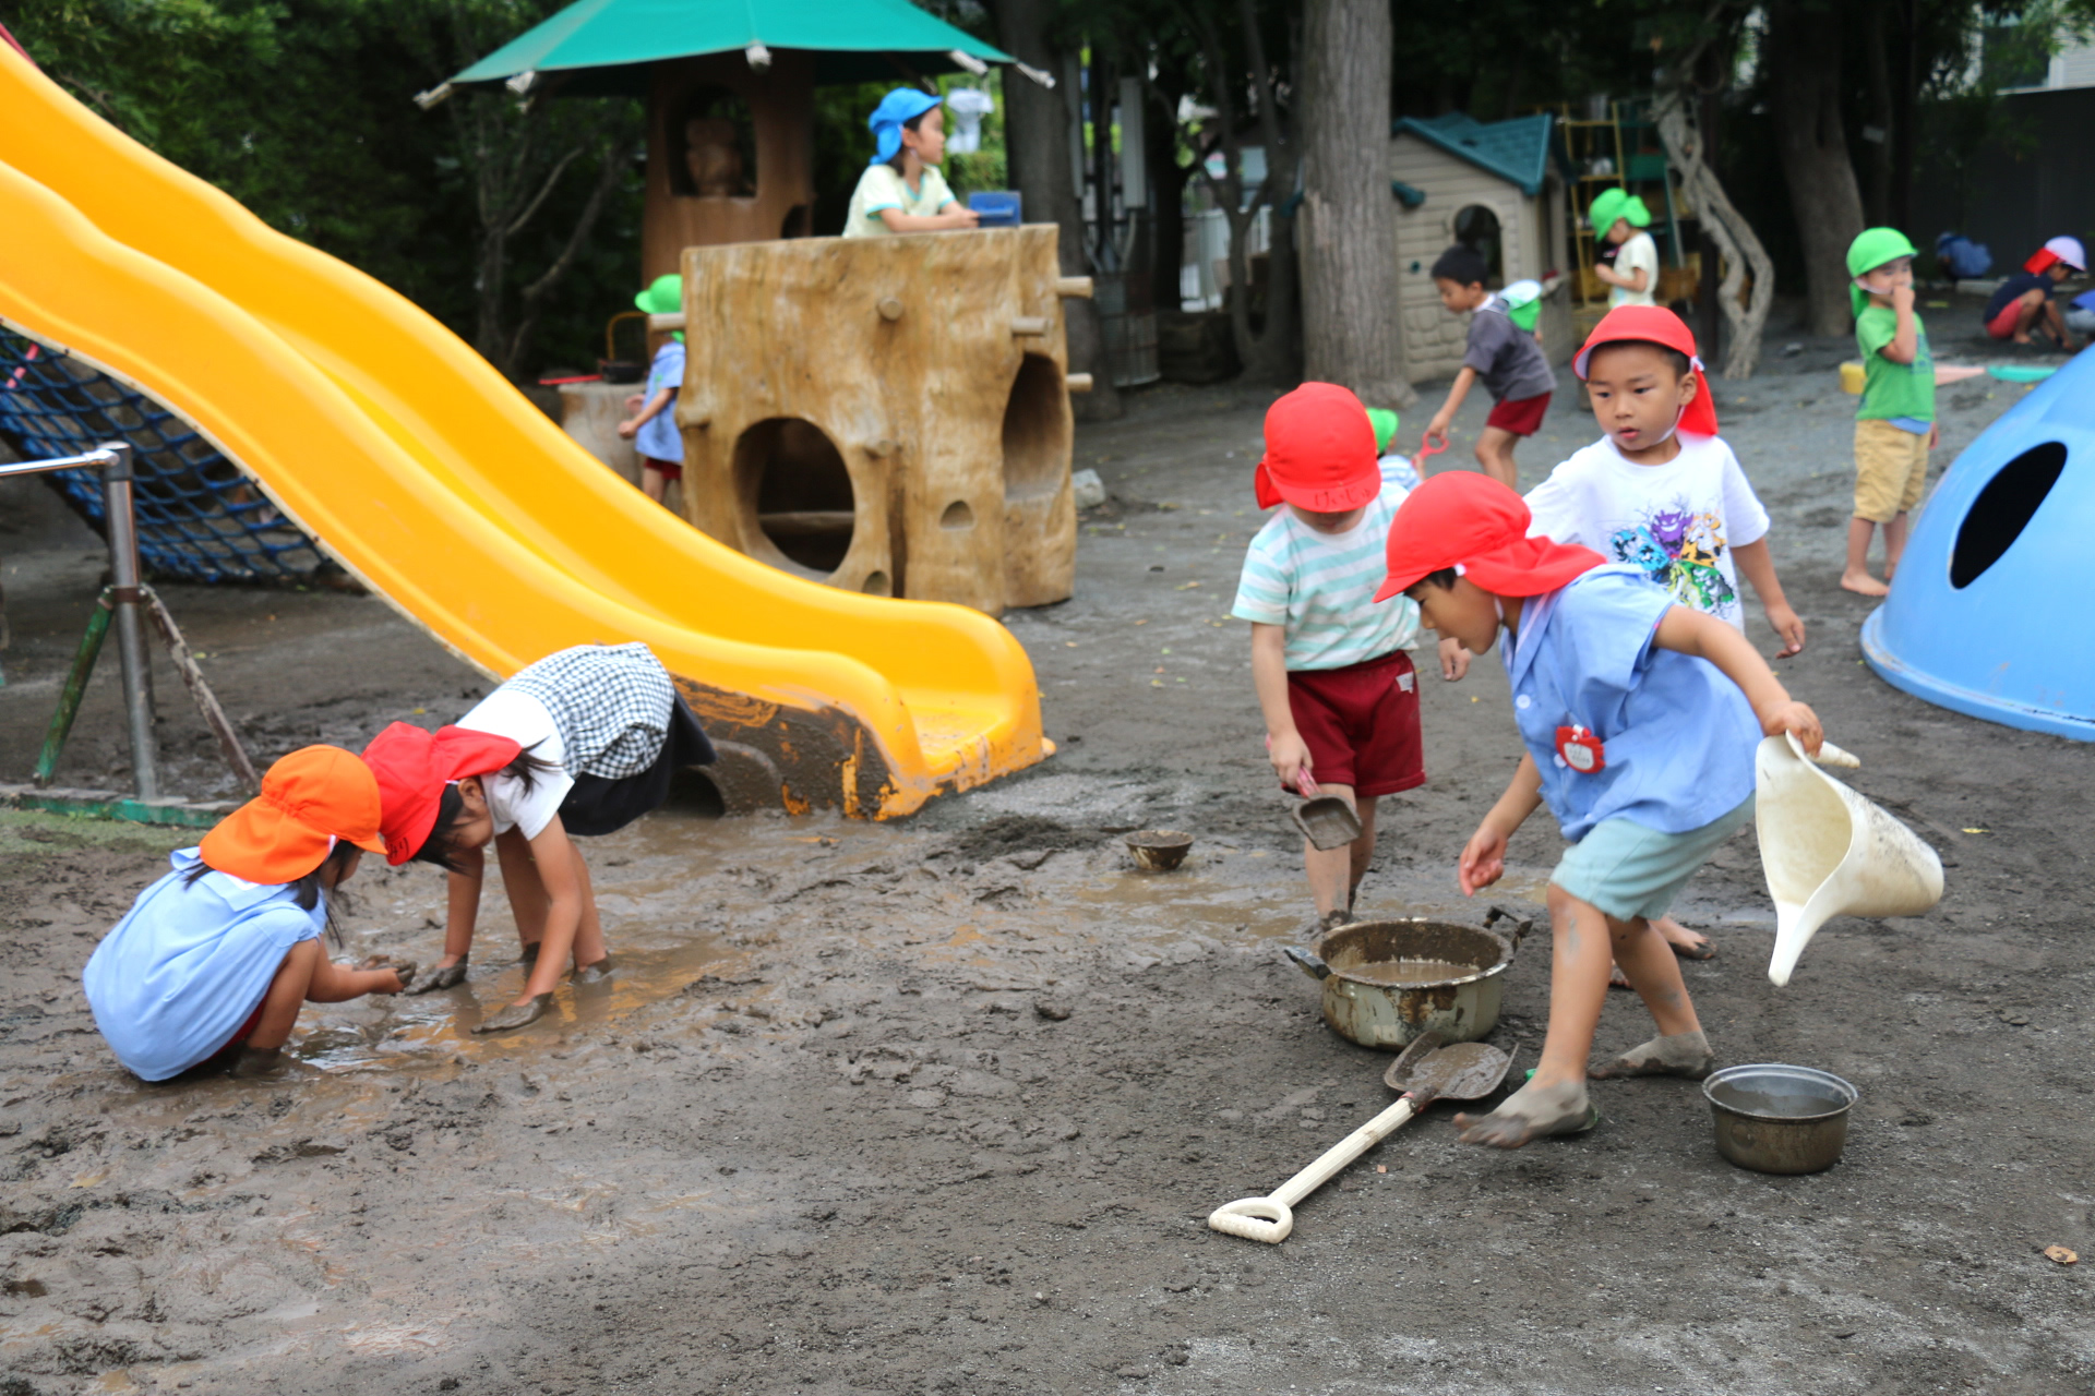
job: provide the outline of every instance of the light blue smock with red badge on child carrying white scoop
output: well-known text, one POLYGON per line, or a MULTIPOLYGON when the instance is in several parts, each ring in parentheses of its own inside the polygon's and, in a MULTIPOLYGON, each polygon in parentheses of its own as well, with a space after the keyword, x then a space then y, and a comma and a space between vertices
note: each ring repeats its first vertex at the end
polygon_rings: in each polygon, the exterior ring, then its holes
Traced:
POLYGON ((1714 663, 1651 643, 1672 607, 1640 569, 1594 567, 1531 596, 1517 640, 1500 645, 1513 720, 1571 841, 1605 818, 1689 833, 1754 793, 1760 720, 1714 663), (1571 770, 1559 726, 1598 737, 1603 768, 1571 770))

